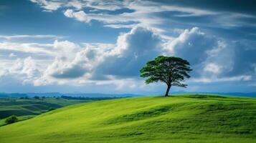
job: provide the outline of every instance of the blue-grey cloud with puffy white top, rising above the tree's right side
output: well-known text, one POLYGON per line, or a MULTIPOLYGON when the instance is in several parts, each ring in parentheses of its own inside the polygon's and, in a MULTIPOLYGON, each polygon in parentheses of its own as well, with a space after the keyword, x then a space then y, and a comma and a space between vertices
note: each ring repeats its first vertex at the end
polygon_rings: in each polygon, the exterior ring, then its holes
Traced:
POLYGON ((167 54, 187 59, 192 66, 194 76, 202 74, 202 63, 207 59, 206 51, 216 46, 217 40, 207 36, 198 27, 185 29, 178 37, 163 44, 167 54))

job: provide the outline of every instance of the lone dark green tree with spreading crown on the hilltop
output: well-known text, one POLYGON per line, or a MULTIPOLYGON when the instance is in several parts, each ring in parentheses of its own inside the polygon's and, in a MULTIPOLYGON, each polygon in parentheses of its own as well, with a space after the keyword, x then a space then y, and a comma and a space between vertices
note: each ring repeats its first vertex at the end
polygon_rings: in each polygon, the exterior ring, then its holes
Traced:
POLYGON ((141 77, 148 77, 145 83, 164 82, 167 84, 165 97, 168 97, 171 86, 186 87, 182 84, 185 78, 189 78, 189 61, 174 56, 158 56, 153 61, 148 61, 140 72, 141 77))

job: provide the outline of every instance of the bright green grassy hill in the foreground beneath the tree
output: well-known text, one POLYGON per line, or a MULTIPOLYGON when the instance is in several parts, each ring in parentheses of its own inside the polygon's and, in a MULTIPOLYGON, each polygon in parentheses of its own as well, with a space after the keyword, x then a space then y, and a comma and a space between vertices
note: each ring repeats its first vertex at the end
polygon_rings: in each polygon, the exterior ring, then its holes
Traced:
POLYGON ((0 127, 0 142, 256 142, 256 99, 177 95, 75 104, 0 127))

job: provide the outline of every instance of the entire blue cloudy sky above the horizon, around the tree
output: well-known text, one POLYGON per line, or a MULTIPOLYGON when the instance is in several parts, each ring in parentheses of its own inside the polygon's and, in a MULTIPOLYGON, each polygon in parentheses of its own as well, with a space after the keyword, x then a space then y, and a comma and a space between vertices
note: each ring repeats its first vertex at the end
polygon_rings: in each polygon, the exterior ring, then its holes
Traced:
POLYGON ((256 92, 256 1, 0 1, 0 92, 162 94, 159 55, 193 69, 171 92, 256 92))

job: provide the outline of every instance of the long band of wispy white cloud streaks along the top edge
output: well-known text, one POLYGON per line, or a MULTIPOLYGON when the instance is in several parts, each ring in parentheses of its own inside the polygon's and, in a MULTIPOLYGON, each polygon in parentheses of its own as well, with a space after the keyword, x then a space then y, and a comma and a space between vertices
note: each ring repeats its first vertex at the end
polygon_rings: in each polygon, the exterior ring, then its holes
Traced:
POLYGON ((249 25, 246 21, 242 21, 243 18, 255 18, 255 16, 248 14, 240 14, 232 11, 214 11, 212 9, 204 9, 193 6, 179 6, 169 2, 162 3, 161 1, 100 1, 100 0, 31 0, 32 2, 39 4, 44 11, 56 11, 57 9, 63 9, 65 16, 74 18, 78 21, 90 23, 92 19, 101 21, 105 26, 111 28, 117 28, 124 26, 131 28, 131 26, 125 26, 123 23, 130 22, 135 24, 141 24, 144 26, 150 26, 151 28, 161 29, 168 32, 166 27, 162 24, 182 24, 179 19, 190 18, 191 16, 212 16, 214 20, 206 20, 205 22, 196 23, 196 20, 189 21, 190 26, 212 26, 212 27, 224 27, 230 28, 231 26, 249 25), (88 8, 90 11, 82 11, 83 8, 88 8), (111 14, 106 11, 115 11, 118 9, 129 9, 129 11, 123 11, 118 14, 111 14), (165 14, 169 13, 169 14, 165 14), (162 16, 165 14, 165 16, 162 16), (171 18, 172 17, 172 18, 171 18), (178 19, 177 19, 178 18, 178 19))

